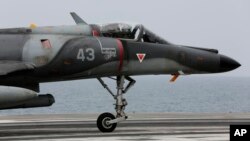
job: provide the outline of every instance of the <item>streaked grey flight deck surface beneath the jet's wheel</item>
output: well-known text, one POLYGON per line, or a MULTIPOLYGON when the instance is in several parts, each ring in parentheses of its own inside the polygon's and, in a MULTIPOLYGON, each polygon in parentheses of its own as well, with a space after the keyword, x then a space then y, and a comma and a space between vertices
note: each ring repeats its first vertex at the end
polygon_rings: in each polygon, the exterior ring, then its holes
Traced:
POLYGON ((250 113, 130 113, 112 133, 96 127, 98 114, 0 116, 0 140, 228 141, 230 124, 250 124, 250 113))

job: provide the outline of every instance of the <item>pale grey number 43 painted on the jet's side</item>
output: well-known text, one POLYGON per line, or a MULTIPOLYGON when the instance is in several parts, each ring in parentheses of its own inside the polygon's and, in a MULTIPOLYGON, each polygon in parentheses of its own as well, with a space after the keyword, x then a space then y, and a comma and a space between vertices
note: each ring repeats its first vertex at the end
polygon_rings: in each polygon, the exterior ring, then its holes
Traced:
POLYGON ((95 60, 95 50, 93 48, 86 48, 86 50, 84 50, 83 48, 80 48, 78 50, 77 53, 77 57, 78 60, 82 60, 82 61, 94 61, 95 60))

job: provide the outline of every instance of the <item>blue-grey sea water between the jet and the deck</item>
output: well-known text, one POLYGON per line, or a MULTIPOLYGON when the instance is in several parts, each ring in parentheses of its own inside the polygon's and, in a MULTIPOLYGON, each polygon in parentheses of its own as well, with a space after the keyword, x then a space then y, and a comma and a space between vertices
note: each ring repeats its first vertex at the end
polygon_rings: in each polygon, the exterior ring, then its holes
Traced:
MULTIPOLYGON (((137 76, 124 96, 126 112, 250 112, 250 77, 137 76)), ((116 92, 116 83, 104 79, 116 92)), ((1 110, 0 115, 114 112, 114 99, 96 79, 43 83, 41 93, 53 94, 51 107, 1 110)))

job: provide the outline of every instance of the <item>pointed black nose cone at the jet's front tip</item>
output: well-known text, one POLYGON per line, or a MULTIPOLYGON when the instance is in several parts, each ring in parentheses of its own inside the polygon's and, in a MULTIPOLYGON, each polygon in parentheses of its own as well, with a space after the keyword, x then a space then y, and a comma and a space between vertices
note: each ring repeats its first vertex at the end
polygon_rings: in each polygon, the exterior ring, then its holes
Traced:
POLYGON ((224 55, 220 55, 220 68, 219 68, 220 72, 231 71, 231 70, 234 70, 240 66, 241 66, 241 64, 239 62, 235 61, 234 59, 229 58, 229 57, 224 56, 224 55))

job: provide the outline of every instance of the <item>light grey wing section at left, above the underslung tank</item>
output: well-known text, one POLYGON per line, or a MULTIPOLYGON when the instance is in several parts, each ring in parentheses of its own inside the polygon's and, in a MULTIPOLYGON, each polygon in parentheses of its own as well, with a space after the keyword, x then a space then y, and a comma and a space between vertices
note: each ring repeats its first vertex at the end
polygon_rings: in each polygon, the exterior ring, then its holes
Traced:
POLYGON ((25 63, 21 61, 0 61, 0 75, 6 75, 8 73, 21 71, 21 70, 31 70, 34 69, 34 64, 25 63))

